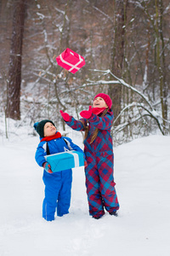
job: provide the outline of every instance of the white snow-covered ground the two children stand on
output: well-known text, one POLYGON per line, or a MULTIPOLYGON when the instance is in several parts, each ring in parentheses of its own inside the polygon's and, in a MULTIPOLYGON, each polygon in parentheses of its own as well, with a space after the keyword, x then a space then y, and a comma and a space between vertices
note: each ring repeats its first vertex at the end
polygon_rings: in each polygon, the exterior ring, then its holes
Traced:
MULTIPOLYGON (((1 256, 170 255, 170 137, 144 137, 114 149, 117 218, 88 215, 81 167, 73 169, 70 214, 53 222, 42 218, 38 140, 0 141, 1 256)), ((73 142, 82 146, 82 135, 73 142)))

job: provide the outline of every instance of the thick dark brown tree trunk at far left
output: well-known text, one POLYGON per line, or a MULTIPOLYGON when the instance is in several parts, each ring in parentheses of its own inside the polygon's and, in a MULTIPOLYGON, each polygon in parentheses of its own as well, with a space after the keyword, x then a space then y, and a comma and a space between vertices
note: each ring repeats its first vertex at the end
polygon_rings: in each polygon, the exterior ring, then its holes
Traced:
POLYGON ((14 1, 13 29, 8 69, 7 109, 8 118, 20 119, 20 83, 22 43, 24 21, 26 13, 26 0, 14 1))

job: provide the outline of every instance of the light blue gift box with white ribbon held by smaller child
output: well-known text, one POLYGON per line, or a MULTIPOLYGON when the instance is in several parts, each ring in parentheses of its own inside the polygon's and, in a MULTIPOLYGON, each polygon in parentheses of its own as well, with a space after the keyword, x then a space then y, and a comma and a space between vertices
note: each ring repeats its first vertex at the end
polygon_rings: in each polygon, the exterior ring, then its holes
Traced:
POLYGON ((45 159, 51 166, 52 172, 60 172, 67 169, 84 166, 84 155, 75 150, 48 154, 45 159))

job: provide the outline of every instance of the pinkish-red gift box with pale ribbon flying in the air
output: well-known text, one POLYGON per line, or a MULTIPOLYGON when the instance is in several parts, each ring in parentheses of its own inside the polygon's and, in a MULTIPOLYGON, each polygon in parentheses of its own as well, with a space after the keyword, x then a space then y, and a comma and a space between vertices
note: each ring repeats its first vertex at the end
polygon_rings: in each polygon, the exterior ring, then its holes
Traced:
POLYGON ((64 67, 71 73, 77 73, 77 71, 86 64, 81 55, 78 55, 75 51, 69 48, 65 49, 56 58, 56 61, 60 67, 64 67))

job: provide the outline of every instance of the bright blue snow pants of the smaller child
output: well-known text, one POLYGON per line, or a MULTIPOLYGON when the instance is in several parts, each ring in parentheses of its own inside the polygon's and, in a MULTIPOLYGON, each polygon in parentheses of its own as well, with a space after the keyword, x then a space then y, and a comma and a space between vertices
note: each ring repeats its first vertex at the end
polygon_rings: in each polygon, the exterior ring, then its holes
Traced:
POLYGON ((56 209, 57 216, 59 217, 69 213, 71 205, 72 170, 69 169, 54 173, 44 171, 42 180, 45 184, 42 217, 48 221, 54 220, 56 209))

